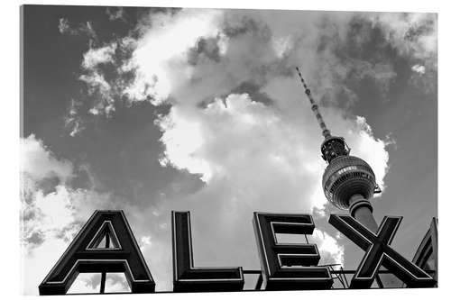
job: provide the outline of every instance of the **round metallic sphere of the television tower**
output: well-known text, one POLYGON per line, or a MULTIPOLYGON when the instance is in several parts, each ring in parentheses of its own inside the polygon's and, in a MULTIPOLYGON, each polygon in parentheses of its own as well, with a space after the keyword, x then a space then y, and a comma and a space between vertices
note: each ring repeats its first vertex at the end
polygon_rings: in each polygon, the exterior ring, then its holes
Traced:
POLYGON ((327 200, 340 209, 349 208, 353 195, 373 197, 376 187, 373 169, 354 156, 338 156, 332 159, 323 174, 323 189, 327 200))

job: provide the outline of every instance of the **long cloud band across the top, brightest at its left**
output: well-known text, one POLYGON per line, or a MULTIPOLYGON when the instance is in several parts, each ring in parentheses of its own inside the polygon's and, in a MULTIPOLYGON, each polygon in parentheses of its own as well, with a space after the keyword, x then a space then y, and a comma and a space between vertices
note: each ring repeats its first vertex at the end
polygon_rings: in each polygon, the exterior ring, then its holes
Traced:
MULTIPOLYGON (((126 36, 121 41, 130 57, 116 58, 122 66, 118 66, 121 72, 117 77, 109 80, 110 94, 124 96, 132 103, 161 105, 180 99, 198 103, 227 95, 244 82, 262 86, 274 76, 287 76, 300 64, 318 99, 336 102, 342 94, 352 105, 356 101, 353 83, 370 78, 384 96, 396 77, 388 55, 374 52, 373 58, 364 57, 368 56, 363 51, 374 28, 384 34, 384 44, 398 49, 400 55, 434 57, 437 32, 434 18, 428 14, 269 14, 214 9, 151 12, 136 26, 138 33, 133 36, 137 38, 126 36), (406 35, 406 43, 400 44, 398 38, 406 35)), ((91 49, 85 58, 108 51, 104 62, 113 62, 115 55, 109 50, 111 45, 91 49)), ((99 73, 98 68, 87 69, 99 73)), ((90 81, 87 84, 92 87, 90 81)), ((108 103, 97 111, 111 110, 114 104, 108 103)))

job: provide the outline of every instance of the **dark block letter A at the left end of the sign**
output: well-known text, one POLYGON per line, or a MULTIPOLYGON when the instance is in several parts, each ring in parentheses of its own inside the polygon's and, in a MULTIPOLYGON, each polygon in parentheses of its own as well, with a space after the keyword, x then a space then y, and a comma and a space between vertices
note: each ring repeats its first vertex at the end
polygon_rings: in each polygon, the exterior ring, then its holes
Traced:
POLYGON ((40 295, 63 295, 78 273, 124 272, 132 293, 155 289, 123 211, 96 211, 39 286, 40 295), (99 248, 108 235, 112 246, 99 248))

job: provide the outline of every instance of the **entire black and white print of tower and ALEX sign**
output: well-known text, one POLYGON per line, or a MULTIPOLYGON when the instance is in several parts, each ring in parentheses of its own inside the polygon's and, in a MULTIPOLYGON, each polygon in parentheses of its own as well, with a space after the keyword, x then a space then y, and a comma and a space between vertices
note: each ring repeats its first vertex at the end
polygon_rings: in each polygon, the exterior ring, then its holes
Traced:
POLYGON ((22 295, 446 285, 437 11, 17 10, 22 295))

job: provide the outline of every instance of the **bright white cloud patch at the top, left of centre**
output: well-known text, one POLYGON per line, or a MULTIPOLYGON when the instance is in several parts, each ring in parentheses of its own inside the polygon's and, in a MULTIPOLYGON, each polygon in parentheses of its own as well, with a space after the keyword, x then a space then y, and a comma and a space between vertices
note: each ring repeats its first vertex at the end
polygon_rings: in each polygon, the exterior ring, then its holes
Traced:
POLYGON ((152 14, 151 29, 137 41, 133 57, 124 69, 136 71, 132 85, 124 89, 134 101, 152 98, 160 104, 170 95, 174 84, 189 80, 190 69, 185 65, 189 48, 200 37, 215 37, 219 31, 218 10, 184 9, 179 14, 152 14))

